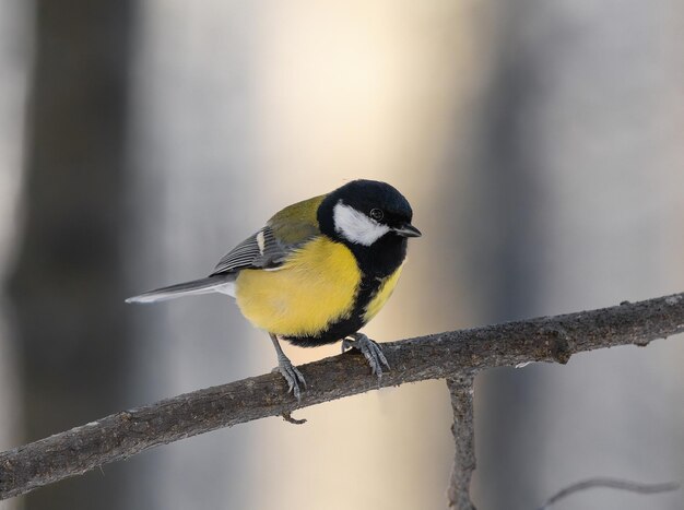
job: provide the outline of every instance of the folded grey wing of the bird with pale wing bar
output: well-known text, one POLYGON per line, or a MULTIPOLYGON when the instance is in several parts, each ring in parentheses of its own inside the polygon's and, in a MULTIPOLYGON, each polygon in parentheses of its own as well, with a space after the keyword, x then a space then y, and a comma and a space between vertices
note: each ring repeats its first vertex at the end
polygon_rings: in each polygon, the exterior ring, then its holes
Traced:
POLYGON ((297 246, 279 242, 271 227, 266 226, 233 248, 219 261, 210 276, 248 268, 276 269, 297 246))

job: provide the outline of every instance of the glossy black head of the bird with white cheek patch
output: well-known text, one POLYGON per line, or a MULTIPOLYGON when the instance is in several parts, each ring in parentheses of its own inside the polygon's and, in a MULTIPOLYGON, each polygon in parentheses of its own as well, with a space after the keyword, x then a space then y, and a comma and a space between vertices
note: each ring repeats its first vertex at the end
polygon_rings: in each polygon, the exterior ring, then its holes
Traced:
POLYGON ((354 180, 329 193, 318 210, 321 232, 352 245, 370 246, 385 236, 418 237, 409 201, 392 186, 354 180))

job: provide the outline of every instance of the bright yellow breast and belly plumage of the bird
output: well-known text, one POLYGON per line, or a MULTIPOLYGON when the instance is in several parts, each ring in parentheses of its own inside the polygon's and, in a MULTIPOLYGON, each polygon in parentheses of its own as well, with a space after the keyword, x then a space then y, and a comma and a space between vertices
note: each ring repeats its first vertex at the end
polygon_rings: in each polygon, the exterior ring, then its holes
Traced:
POLYGON ((275 271, 240 271, 235 298, 257 328, 281 336, 316 335, 351 315, 359 280, 352 252, 317 237, 275 271))

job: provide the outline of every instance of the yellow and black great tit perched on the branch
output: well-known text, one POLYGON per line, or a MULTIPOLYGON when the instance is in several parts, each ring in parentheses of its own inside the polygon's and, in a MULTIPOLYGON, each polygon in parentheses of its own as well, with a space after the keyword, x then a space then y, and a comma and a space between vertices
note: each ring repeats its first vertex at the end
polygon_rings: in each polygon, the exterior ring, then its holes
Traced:
MULTIPOLYGON (((354 347, 378 379, 389 364, 362 329, 392 294, 420 237, 413 211, 396 188, 357 179, 288 205, 223 257, 203 278, 145 292, 126 303, 226 294, 275 348, 278 370, 299 401, 306 380, 279 341, 302 347, 342 342, 354 347)), ((274 369, 275 370, 275 369, 274 369)))

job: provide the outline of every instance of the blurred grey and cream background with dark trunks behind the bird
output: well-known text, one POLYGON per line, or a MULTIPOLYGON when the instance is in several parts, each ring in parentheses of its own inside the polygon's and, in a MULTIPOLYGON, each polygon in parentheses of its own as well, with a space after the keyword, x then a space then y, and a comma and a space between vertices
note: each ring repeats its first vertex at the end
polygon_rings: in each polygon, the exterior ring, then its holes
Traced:
MULTIPOLYGON (((683 34, 677 0, 0 0, 0 447, 270 370, 225 298, 123 298, 358 177, 400 189, 424 233, 376 340, 684 290, 683 34)), ((481 375, 477 508, 684 479, 683 340, 481 375)), ((1 508, 445 507, 443 381, 295 416, 1 508)))

